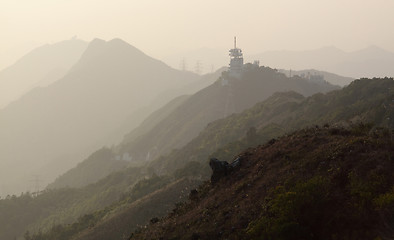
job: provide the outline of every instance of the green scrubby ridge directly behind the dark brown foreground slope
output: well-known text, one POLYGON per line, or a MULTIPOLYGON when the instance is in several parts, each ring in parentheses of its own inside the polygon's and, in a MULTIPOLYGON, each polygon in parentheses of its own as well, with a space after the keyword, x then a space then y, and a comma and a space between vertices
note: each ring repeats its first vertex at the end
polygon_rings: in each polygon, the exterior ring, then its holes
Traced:
MULTIPOLYGON (((265 143, 272 138, 293 131, 298 126, 299 128, 304 126, 315 126, 317 124, 323 126, 326 123, 329 125, 355 125, 355 123, 349 124, 349 121, 352 120, 356 122, 355 120, 358 119, 375 123, 376 125, 374 128, 376 129, 380 126, 388 126, 392 129, 393 126, 390 125, 392 122, 387 122, 387 120, 393 119, 392 117, 394 117, 394 105, 392 104, 392 100, 394 99, 393 85, 394 81, 392 79, 362 79, 355 81, 343 90, 334 91, 328 94, 317 94, 308 98, 294 92, 278 93, 240 114, 233 114, 227 118, 212 122, 197 138, 185 147, 174 150, 169 155, 152 161, 148 166, 138 169, 128 168, 120 173, 113 173, 97 184, 86 187, 85 189, 90 189, 92 186, 97 187, 97 192, 91 194, 91 196, 89 196, 90 198, 87 198, 90 199, 92 206, 96 206, 95 209, 89 208, 91 210, 89 214, 93 214, 97 216, 97 218, 95 218, 96 220, 92 225, 86 225, 84 221, 75 223, 75 226, 78 226, 76 228, 79 230, 73 232, 73 234, 78 236, 78 234, 82 232, 91 231, 86 230, 86 228, 89 226, 98 226, 97 224, 106 226, 105 222, 109 219, 108 216, 112 216, 108 215, 110 212, 115 211, 121 214, 123 209, 127 208, 129 204, 132 204, 133 201, 138 200, 142 196, 130 193, 134 184, 146 176, 155 176, 155 173, 163 177, 162 181, 164 181, 165 185, 155 185, 155 181, 152 180, 153 182, 151 184, 153 185, 147 188, 152 191, 159 190, 185 177, 202 180, 208 179, 211 173, 207 164, 209 156, 231 161, 242 150, 265 143), (97 202, 101 199, 98 197, 100 196, 100 192, 106 192, 108 196, 111 197, 114 196, 112 202, 105 205, 113 206, 111 211, 104 213, 98 211, 94 213, 95 210, 100 209, 97 207, 97 202), (119 198, 123 200, 130 198, 131 201, 127 201, 126 203, 119 202, 119 198)), ((47 196, 46 194, 47 193, 42 194, 42 197, 47 196)), ((174 198, 172 200, 176 202, 179 195, 174 194, 173 196, 174 198)), ((10 201, 12 202, 13 200, 10 201)), ((34 204, 38 203, 37 201, 33 202, 34 204)), ((81 201, 77 201, 75 202, 75 206, 85 210, 82 203, 81 201)), ((43 207, 44 205, 40 206, 43 207)), ((168 208, 162 210, 162 212, 171 209, 170 205, 167 205, 167 207, 168 208)), ((70 211, 71 208, 69 205, 63 206, 60 209, 63 213, 72 212, 70 211)), ((79 216, 83 216, 83 214, 87 212, 80 211, 77 213, 80 214, 79 216)), ((54 213, 48 213, 48 219, 51 218, 51 214, 54 213)), ((154 214, 152 213, 152 215, 154 214)), ((74 215, 72 219, 76 221, 77 218, 78 216, 74 215)), ((43 224, 42 221, 33 222, 36 226, 43 224)), ((44 221, 44 223, 48 223, 48 221, 44 221)), ((57 221, 56 224, 57 223, 62 222, 57 221)), ((146 221, 142 221, 138 224, 141 225, 145 223, 146 221)), ((8 226, 12 224, 15 225, 15 221, 8 222, 8 226)), ((52 225, 44 224, 41 226, 52 225)), ((127 229, 132 229, 136 227, 137 224, 133 223, 124 226, 126 226, 127 229)), ((23 229, 23 227, 19 229, 23 229)), ((46 229, 48 229, 48 227, 46 229)), ((95 229, 101 231, 98 228, 95 229)), ((122 231, 126 232, 127 229, 122 231)), ((91 232, 92 235, 89 236, 94 236, 94 232, 95 231, 91 232)), ((51 234, 51 232, 48 234, 51 234)))

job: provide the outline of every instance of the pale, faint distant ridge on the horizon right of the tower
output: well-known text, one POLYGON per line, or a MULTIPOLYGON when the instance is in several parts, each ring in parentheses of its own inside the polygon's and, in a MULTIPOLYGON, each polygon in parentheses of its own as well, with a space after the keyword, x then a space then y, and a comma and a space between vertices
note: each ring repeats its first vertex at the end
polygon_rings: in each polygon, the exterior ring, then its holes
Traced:
POLYGON ((309 51, 268 51, 248 57, 280 69, 314 68, 352 78, 394 76, 394 53, 377 46, 354 52, 345 52, 333 46, 309 51))

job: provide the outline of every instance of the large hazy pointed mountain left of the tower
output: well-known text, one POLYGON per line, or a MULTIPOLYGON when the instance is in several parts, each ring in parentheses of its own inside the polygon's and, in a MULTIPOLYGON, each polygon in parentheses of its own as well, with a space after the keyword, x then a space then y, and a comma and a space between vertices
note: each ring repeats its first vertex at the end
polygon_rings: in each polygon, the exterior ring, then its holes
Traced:
POLYGON ((130 131, 134 126, 124 121, 141 106, 150 105, 159 95, 164 104, 195 91, 200 79, 120 39, 93 40, 63 78, 0 111, 3 194, 28 190, 34 173, 45 178, 41 184, 52 181, 89 153, 120 139, 126 130, 119 131, 119 126, 130 131), (120 133, 114 135, 114 131, 120 133), (21 165, 25 167, 20 169, 21 165), (17 180, 16 175, 25 179, 17 180), (15 181, 18 187, 7 187, 15 181))

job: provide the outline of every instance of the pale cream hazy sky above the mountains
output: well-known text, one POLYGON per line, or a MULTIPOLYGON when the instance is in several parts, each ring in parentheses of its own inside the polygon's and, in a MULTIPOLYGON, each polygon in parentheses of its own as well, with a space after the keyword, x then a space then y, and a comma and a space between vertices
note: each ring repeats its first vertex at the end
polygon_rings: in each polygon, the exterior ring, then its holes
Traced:
POLYGON ((0 0, 0 69, 16 55, 73 36, 122 38, 161 58, 172 51, 249 53, 377 45, 394 51, 394 0, 0 0))

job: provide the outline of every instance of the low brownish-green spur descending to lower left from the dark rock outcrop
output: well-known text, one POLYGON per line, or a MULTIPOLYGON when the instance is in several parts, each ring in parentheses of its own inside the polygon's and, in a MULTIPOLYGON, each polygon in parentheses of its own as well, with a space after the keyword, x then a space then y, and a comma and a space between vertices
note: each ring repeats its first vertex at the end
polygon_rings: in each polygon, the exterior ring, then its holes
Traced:
MULTIPOLYGON (((69 224, 56 224, 53 225, 50 229, 46 229, 42 231, 41 229, 38 232, 30 233, 29 231, 25 232, 24 238, 25 240, 67 240, 67 239, 85 239, 89 238, 89 231, 95 227, 100 227, 105 220, 116 222, 117 225, 125 224, 128 226, 128 222, 124 222, 122 220, 122 215, 124 212, 135 212, 135 209, 141 210, 141 204, 147 205, 144 208, 149 208, 152 213, 149 213, 149 210, 143 210, 142 212, 138 212, 133 214, 131 217, 136 223, 143 223, 149 219, 150 215, 159 216, 167 213, 169 209, 171 209, 176 201, 179 199, 183 199, 187 196, 187 191, 182 191, 182 188, 187 188, 198 184, 198 181, 185 181, 184 179, 174 180, 168 176, 157 176, 153 175, 150 178, 143 178, 134 184, 133 188, 123 193, 119 201, 115 201, 113 204, 101 209, 94 211, 89 214, 85 214, 79 217, 75 222, 69 224), (175 183, 175 184, 174 184, 175 183), (175 186, 175 187, 174 187, 175 186), (162 199, 162 197, 158 197, 156 201, 150 203, 149 198, 155 198, 155 194, 160 195, 161 189, 169 189, 165 191, 168 195, 168 203, 162 199), (181 189, 181 190, 180 190, 181 189), (148 200, 143 200, 146 196, 150 196, 148 200), (177 198, 178 196, 179 198, 177 198), (137 201, 138 200, 138 201, 137 201), (159 201, 160 203, 157 203, 159 201), (163 202, 165 204, 163 204, 163 202), (120 219, 120 220, 119 220, 120 219), (87 236, 86 236, 87 235, 87 236)), ((127 234, 131 229, 136 228, 136 224, 130 226, 131 228, 124 228, 127 234)), ((109 231, 110 229, 108 229, 109 231)), ((109 231, 110 232, 110 231, 109 231)), ((108 234, 109 232, 106 232, 108 234)), ((114 235, 118 235, 118 233, 113 233, 114 235)))

